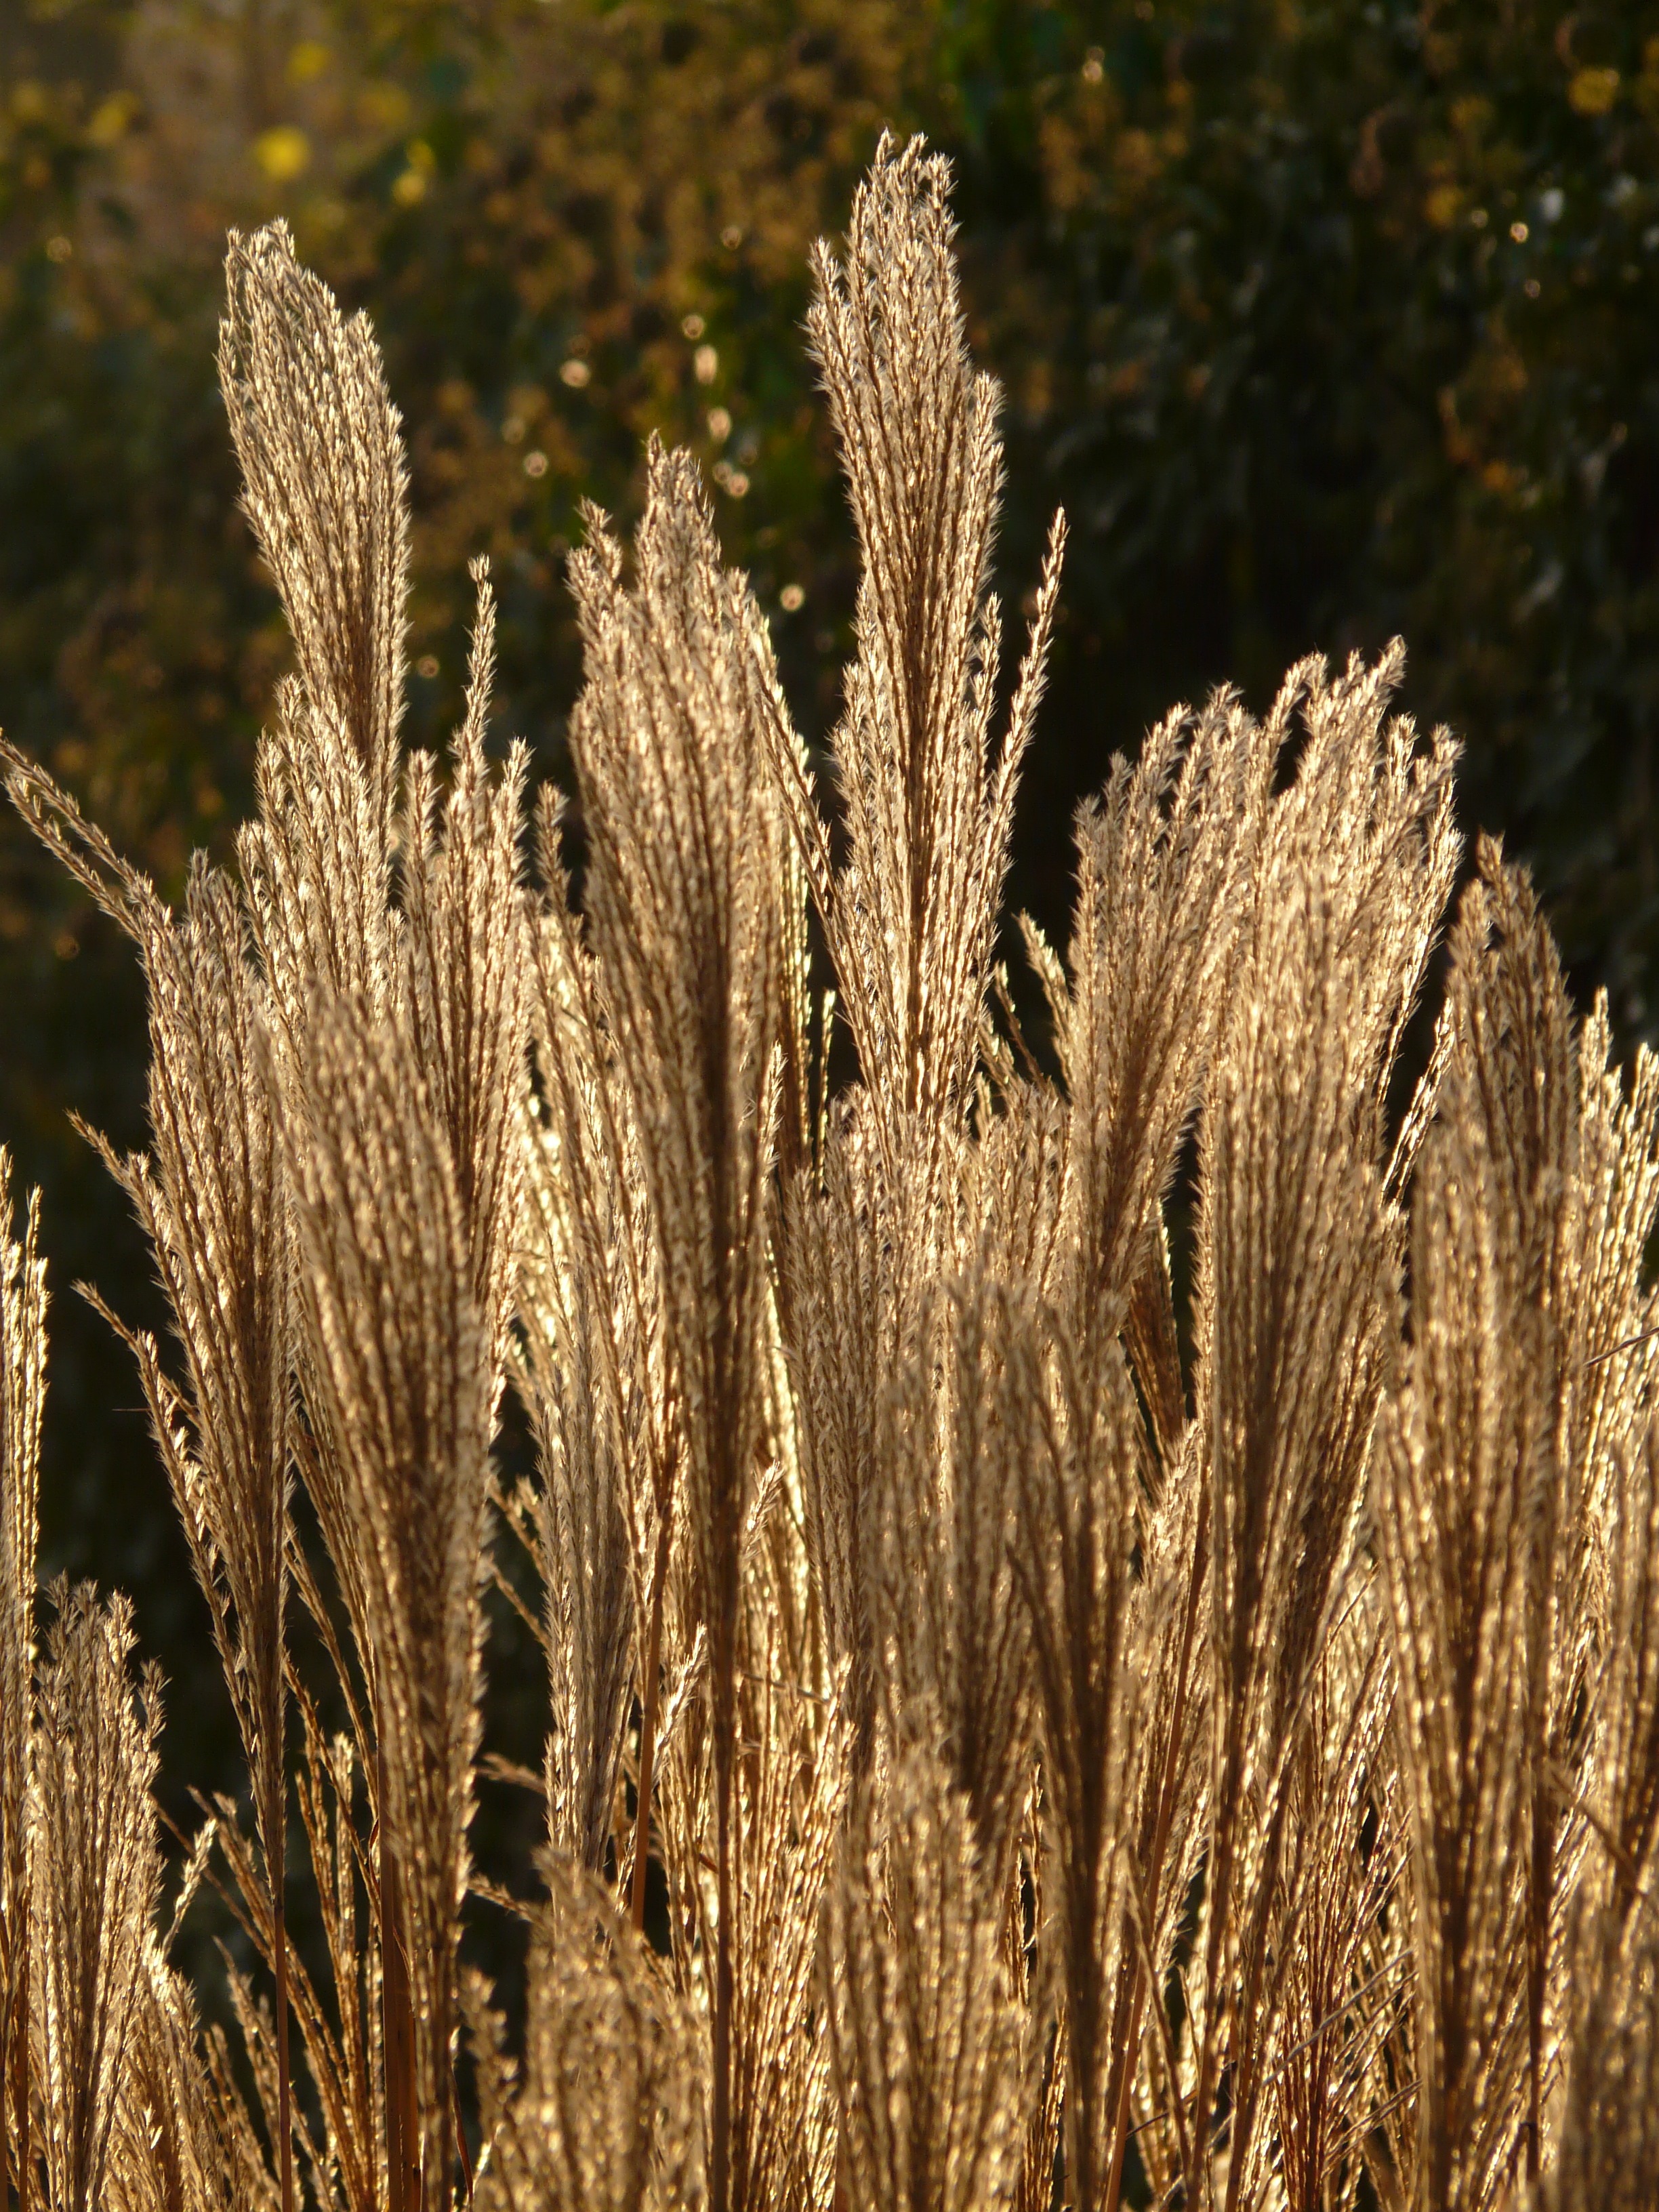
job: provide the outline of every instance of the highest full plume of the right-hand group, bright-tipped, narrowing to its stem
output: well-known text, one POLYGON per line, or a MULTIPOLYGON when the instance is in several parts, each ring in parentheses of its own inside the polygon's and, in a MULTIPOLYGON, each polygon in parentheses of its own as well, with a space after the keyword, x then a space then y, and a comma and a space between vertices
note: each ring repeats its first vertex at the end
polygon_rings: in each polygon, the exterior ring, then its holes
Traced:
MULTIPOLYGON (((1225 2203, 1248 2201, 1310 1860, 1285 1785, 1343 1597, 1371 1425, 1391 1363, 1398 1223, 1385 1199, 1394 1055, 1455 869, 1451 748, 1385 723, 1398 653, 1336 681, 1294 670, 1274 750, 1305 741, 1274 799, 1254 914, 1201 1126, 1199 1385, 1210 1460, 1214 1750, 1206 2044, 1192 2159, 1223 2051, 1225 2203), (1338 1230, 1340 1223, 1340 1230, 1338 1230)), ((1188 2170, 1188 2190, 1199 2190, 1188 2170)))

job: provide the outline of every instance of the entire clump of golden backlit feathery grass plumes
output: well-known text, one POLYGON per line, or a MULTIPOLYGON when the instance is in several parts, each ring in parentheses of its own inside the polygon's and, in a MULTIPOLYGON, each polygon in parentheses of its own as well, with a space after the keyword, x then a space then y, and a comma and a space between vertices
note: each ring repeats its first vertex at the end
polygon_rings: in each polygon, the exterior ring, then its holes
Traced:
POLYGON ((248 1792, 164 1922, 159 1683, 119 1597, 38 1588, 0 1155, 7 2203, 1657 2203, 1659 1062, 1464 867, 1400 650, 1113 765, 1071 940, 1020 925, 1040 1057, 998 956, 1064 526, 1004 681, 938 157, 883 142, 814 263, 827 796, 653 445, 571 564, 580 843, 487 748, 482 566, 453 754, 400 748, 374 336, 281 226, 228 279, 294 639, 234 865, 168 907, 4 774, 144 964, 150 1144, 104 1152, 173 1340, 126 1336, 248 1792), (491 1584, 546 1659, 511 1889, 491 1584))

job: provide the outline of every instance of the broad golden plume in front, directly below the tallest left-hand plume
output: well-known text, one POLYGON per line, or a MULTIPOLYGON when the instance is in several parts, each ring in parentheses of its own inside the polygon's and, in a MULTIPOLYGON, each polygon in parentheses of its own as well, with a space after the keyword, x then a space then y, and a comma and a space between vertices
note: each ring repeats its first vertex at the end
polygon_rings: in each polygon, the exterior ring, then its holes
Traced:
MULTIPOLYGON (((403 1947, 414 2024, 418 2141, 403 2146, 409 2172, 394 2185, 436 2208, 453 2152, 449 2033, 495 1385, 449 1146, 407 1037, 361 1004, 319 1009, 303 1099, 305 1121, 290 1119, 283 1141, 307 1402, 330 1467, 319 1511, 336 1566, 356 1562, 341 1582, 358 1604, 380 1750, 383 1951, 403 1947)), ((396 2106, 392 2086, 387 2097, 396 2106)))

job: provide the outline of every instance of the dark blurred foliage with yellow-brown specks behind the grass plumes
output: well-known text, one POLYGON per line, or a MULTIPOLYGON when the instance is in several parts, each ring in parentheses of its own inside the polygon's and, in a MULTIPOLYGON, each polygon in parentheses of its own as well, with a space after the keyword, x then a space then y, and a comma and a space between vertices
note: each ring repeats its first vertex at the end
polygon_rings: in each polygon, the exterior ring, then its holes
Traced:
MULTIPOLYGON (((1579 987, 1652 1024, 1659 7, 0 0, 0 721, 164 883, 226 847, 285 661, 212 378, 226 226, 283 212, 380 332, 416 741, 456 714, 484 551, 500 730, 562 772, 562 555, 580 498, 630 513, 648 429, 714 471, 821 737, 852 549, 805 248, 894 122, 958 164, 1015 613, 1073 518, 1015 900, 1064 929, 1071 807, 1166 706, 1261 708, 1294 657, 1400 630, 1467 823, 1533 860, 1579 987)), ((11 823, 0 1006, 58 1290, 49 1555, 135 1588, 170 1767, 228 1781, 137 1389, 69 1294, 155 1318, 66 1121, 142 1139, 142 995, 11 823)))

